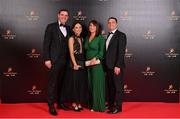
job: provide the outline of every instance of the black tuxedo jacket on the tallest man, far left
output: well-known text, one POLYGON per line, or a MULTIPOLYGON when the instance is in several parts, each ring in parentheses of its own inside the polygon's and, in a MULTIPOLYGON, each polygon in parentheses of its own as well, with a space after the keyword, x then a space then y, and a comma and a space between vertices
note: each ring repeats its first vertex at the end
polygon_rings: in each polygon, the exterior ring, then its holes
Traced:
POLYGON ((43 43, 43 56, 44 60, 51 60, 56 62, 61 60, 61 57, 67 57, 68 53, 68 38, 70 36, 70 27, 65 26, 67 30, 67 36, 62 34, 58 22, 48 24, 43 43))

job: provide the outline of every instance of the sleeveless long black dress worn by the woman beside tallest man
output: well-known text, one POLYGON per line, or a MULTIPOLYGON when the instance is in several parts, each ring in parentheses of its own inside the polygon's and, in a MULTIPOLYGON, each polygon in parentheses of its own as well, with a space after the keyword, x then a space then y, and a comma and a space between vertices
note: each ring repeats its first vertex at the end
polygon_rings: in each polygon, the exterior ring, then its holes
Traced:
MULTIPOLYGON (((82 52, 80 52, 80 44, 78 42, 78 37, 73 36, 74 38, 74 56, 76 61, 85 62, 84 50, 82 48, 82 52)), ((83 39, 81 38, 81 44, 83 47, 83 39)), ((80 64, 79 64, 80 65, 80 64)), ((74 70, 72 68, 72 62, 69 58, 65 80, 63 83, 62 89, 62 100, 65 103, 88 103, 88 78, 87 78, 87 70, 79 69, 74 70)))

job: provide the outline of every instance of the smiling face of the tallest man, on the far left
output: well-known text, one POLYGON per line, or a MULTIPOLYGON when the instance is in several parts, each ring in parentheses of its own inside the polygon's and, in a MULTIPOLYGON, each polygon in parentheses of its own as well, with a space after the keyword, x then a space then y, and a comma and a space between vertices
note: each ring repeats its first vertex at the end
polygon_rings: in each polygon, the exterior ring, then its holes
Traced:
POLYGON ((62 24, 65 24, 67 22, 69 18, 69 14, 67 11, 61 11, 59 14, 58 14, 58 20, 62 23, 62 24))

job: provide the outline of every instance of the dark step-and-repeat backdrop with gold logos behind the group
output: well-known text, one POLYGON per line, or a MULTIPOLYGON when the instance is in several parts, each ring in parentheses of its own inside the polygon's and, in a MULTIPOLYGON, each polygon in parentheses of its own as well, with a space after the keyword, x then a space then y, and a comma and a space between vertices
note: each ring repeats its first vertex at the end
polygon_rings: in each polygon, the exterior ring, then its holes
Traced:
POLYGON ((1 0, 1 103, 46 100, 42 43, 61 8, 70 11, 69 25, 99 21, 104 37, 108 17, 117 17, 128 40, 125 101, 179 102, 179 0, 1 0))

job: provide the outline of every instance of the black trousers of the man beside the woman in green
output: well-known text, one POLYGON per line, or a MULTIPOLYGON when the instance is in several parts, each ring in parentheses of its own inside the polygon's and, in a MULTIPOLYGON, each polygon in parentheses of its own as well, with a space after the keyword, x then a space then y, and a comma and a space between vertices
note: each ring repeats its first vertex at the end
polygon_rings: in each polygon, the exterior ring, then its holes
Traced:
POLYGON ((109 106, 122 107, 124 69, 119 75, 114 74, 114 69, 106 68, 107 102, 109 106))

